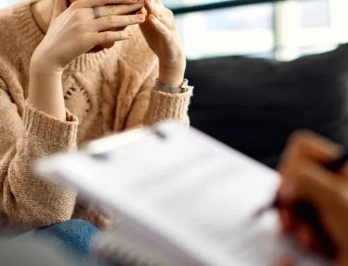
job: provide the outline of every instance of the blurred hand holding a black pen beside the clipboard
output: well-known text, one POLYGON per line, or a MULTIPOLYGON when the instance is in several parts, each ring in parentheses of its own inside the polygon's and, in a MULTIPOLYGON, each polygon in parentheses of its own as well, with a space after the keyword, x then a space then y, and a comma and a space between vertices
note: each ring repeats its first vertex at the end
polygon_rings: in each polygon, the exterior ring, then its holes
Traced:
POLYGON ((283 156, 277 199, 283 232, 309 251, 348 265, 347 153, 314 133, 296 133, 283 156))

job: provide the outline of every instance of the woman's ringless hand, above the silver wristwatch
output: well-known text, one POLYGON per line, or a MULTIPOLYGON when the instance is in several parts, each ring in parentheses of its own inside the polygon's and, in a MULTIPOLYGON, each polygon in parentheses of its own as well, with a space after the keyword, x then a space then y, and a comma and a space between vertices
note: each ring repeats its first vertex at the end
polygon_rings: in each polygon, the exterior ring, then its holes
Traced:
POLYGON ((180 87, 186 58, 173 13, 161 0, 145 0, 145 8, 139 13, 146 15, 140 28, 149 47, 159 58, 159 81, 172 88, 180 87))

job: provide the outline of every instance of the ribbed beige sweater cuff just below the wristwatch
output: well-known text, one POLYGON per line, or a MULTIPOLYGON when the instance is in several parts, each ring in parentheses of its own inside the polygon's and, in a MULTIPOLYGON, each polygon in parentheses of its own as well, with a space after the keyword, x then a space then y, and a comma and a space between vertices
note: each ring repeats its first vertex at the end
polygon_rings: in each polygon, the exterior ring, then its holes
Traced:
POLYGON ((164 120, 187 120, 187 111, 193 87, 187 87, 183 93, 170 94, 152 90, 146 124, 155 124, 164 120))

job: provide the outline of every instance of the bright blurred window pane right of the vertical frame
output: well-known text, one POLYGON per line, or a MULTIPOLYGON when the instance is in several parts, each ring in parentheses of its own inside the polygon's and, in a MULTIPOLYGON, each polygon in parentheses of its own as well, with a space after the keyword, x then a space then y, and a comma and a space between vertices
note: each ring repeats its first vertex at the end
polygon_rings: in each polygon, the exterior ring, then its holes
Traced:
POLYGON ((345 8, 345 0, 276 3, 276 58, 291 60, 329 51, 347 41, 348 34, 342 31, 342 25, 347 24, 345 8))

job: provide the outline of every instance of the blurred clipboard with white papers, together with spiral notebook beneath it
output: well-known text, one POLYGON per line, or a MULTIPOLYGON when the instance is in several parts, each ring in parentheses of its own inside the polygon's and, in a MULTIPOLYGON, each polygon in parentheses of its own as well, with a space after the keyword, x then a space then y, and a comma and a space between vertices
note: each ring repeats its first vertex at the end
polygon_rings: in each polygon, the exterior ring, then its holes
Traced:
POLYGON ((118 265, 271 266, 289 255, 300 266, 331 265, 278 234, 278 174, 175 122, 90 142, 40 160, 38 173, 99 201, 119 217, 104 233, 118 265))

